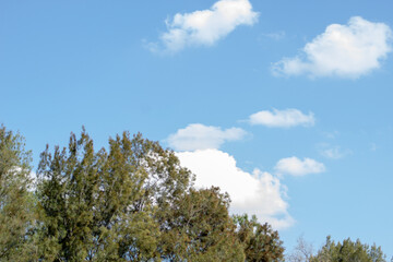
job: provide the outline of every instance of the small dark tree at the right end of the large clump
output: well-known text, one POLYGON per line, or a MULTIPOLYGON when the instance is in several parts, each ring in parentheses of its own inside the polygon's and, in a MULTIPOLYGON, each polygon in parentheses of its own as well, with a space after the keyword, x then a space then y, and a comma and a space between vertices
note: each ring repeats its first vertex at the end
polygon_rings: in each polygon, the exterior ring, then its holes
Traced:
POLYGON ((260 224, 255 216, 234 216, 238 227, 237 235, 243 245, 247 262, 274 262, 284 260, 283 241, 278 233, 265 223, 260 224))

